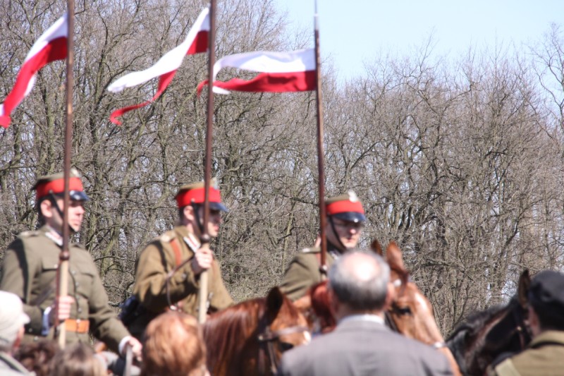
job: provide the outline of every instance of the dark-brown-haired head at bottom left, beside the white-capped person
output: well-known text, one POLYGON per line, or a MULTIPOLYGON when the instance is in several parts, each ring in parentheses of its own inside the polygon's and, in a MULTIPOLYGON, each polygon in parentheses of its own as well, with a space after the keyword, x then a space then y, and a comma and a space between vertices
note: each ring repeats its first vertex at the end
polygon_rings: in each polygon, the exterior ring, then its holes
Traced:
POLYGON ((52 339, 42 339, 37 342, 21 344, 14 354, 27 370, 35 372, 36 376, 49 375, 51 359, 61 351, 59 344, 52 339))

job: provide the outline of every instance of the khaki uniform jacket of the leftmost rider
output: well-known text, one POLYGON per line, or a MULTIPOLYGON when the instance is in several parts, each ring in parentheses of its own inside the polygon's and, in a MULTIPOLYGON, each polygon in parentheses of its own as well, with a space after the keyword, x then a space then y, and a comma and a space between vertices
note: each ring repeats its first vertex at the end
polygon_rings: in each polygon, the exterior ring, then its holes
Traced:
MULTIPOLYGON (((30 323, 25 325, 24 341, 41 338, 43 311, 53 304, 56 296, 55 279, 61 245, 51 231, 49 226, 42 226, 37 231, 20 234, 4 255, 0 289, 15 293, 24 303, 23 310, 30 317, 30 323), (44 298, 34 304, 38 296, 44 298)), ((90 321, 90 333, 104 341, 111 350, 118 351, 119 342, 129 333, 108 304, 94 260, 78 244, 70 244, 69 251, 68 295, 75 298, 70 318, 90 321)), ((54 328, 51 327, 48 338, 52 338, 53 334, 54 328)), ((73 344, 78 341, 90 344, 89 333, 67 330, 66 342, 73 344)))

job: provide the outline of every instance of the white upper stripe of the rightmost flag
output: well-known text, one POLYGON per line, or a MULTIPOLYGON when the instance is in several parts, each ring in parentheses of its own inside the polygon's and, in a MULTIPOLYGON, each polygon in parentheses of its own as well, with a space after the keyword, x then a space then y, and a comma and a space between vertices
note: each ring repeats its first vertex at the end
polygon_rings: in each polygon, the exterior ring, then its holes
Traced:
POLYGON ((315 71, 315 51, 314 49, 291 52, 255 51, 225 56, 214 64, 214 80, 221 68, 227 66, 265 73, 315 71))

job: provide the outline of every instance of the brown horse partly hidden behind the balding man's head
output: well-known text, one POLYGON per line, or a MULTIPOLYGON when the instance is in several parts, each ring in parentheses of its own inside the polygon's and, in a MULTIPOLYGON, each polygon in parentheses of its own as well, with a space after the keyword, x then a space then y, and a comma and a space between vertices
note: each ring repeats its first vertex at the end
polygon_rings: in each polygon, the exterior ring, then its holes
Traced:
MULTIPOLYGON (((445 340, 436 325, 431 303, 410 281, 410 274, 405 269, 403 255, 398 245, 393 241, 389 243, 384 256, 380 243, 374 241, 372 250, 388 262, 390 281, 395 287, 392 305, 386 313, 386 325, 411 339, 437 348, 448 358, 453 373, 460 375, 458 364, 449 348, 446 347, 445 340)), ((329 309, 329 295, 325 282, 313 286, 309 294, 298 299, 294 304, 305 312, 314 332, 330 332, 336 325, 329 309)))

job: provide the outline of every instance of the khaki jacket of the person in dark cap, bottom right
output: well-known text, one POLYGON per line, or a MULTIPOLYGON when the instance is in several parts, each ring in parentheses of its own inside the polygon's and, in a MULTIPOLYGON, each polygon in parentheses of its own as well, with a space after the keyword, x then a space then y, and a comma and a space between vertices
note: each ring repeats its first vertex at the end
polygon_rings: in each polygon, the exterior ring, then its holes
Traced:
POLYGON ((542 332, 525 351, 499 363, 494 370, 489 370, 488 375, 564 375, 564 332, 542 332))

